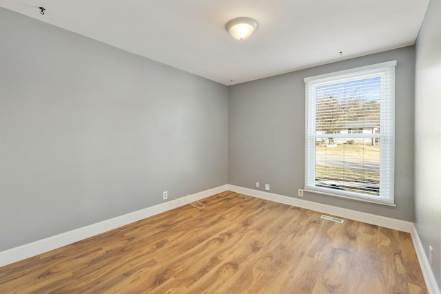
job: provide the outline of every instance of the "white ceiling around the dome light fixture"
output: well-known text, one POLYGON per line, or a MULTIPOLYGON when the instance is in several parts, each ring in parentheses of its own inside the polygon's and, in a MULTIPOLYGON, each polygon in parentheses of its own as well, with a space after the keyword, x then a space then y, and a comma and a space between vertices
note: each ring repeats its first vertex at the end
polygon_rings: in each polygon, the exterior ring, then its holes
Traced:
POLYGON ((0 0, 3 8, 225 85, 412 45, 428 4, 429 0, 0 0), (44 15, 39 6, 46 9, 44 15), (235 17, 256 19, 258 30, 236 41, 225 30, 235 17))

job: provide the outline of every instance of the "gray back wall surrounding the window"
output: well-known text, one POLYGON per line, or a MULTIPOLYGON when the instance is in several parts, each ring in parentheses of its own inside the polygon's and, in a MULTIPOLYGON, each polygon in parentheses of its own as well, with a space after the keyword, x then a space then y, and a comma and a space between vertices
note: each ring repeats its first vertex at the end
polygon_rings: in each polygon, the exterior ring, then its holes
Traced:
POLYGON ((303 199, 413 221, 413 80, 415 48, 391 50, 229 87, 228 182, 298 197, 304 187, 305 83, 303 78, 397 60, 396 207, 316 193, 303 199))

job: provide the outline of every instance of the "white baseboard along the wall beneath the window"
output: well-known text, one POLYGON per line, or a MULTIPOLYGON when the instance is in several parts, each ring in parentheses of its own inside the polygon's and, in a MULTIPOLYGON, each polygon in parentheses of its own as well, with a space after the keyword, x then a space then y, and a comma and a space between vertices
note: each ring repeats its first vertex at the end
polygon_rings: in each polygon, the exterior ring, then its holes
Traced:
POLYGON ((305 209, 311 209, 314 211, 329 213, 334 216, 340 216, 341 218, 349 218, 351 220, 358 220, 359 222, 366 222, 367 224, 375 224, 376 226, 386 227, 398 231, 404 231, 411 233, 413 231, 413 222, 407 222, 406 220, 396 220, 395 218, 387 218, 385 216, 377 216, 371 213, 365 213, 361 211, 354 211, 351 209, 345 209, 341 207, 335 207, 328 204, 322 204, 318 202, 312 202, 302 200, 298 198, 292 198, 288 196, 278 195, 265 191, 258 191, 254 189, 248 189, 238 187, 234 185, 228 185, 230 191, 247 194, 274 202, 292 205, 295 207, 301 207, 305 209))

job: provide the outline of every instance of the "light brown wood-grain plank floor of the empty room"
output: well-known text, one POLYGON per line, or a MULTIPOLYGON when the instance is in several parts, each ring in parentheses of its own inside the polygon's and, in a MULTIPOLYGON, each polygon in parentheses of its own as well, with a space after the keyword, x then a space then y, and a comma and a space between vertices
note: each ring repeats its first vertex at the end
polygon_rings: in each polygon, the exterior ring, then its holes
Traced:
POLYGON ((0 293, 427 293, 409 233, 234 192, 0 268, 0 293))

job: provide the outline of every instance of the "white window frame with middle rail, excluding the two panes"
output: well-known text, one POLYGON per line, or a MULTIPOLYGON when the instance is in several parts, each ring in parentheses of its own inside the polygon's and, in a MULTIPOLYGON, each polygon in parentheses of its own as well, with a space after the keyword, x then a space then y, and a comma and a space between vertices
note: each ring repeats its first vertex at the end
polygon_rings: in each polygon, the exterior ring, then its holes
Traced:
MULTIPOLYGON (((395 156, 395 76, 396 61, 377 63, 364 67, 356 67, 329 74, 305 78, 305 191, 322 193, 329 196, 349 198, 364 202, 373 202, 396 206, 394 196, 394 156, 395 156), (384 71, 382 71, 384 70, 384 71), (380 71, 380 72, 378 72, 380 71), (369 76, 380 77, 380 133, 373 134, 326 134, 329 138, 373 138, 380 140, 380 195, 373 196, 364 193, 341 191, 328 187, 316 186, 316 138, 323 136, 316 132, 316 97, 312 91, 320 85, 332 85, 342 81, 357 81, 369 76), (393 87, 384 87, 385 81, 393 81, 393 87), (312 91, 311 91, 312 90, 312 91), (314 100, 314 101, 311 101, 314 100), (381 105, 391 105, 386 113, 381 105), (309 109, 314 111, 309 112, 309 109), (314 149, 314 151, 312 151, 314 149), (383 192, 382 192, 383 191, 383 192)), ((349 132, 348 132, 349 133, 349 132)))

